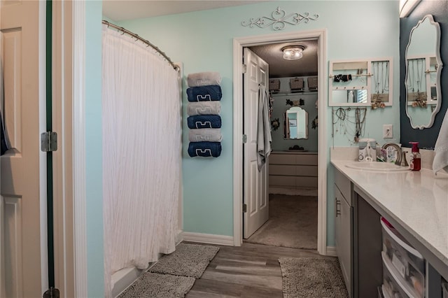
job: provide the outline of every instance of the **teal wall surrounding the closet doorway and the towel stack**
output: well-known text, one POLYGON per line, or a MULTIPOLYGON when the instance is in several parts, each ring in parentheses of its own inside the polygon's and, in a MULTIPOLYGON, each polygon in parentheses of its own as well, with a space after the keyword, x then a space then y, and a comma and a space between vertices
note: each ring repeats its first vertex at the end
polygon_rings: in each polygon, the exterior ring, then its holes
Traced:
MULTIPOLYGON (((384 143, 381 137, 382 125, 392 124, 395 139, 400 139, 398 1, 272 1, 131 20, 120 24, 158 45, 174 62, 182 62, 185 74, 218 71, 223 77, 221 157, 188 157, 186 111, 183 112, 183 227, 186 232, 233 234, 232 42, 235 37, 325 28, 328 33, 328 60, 393 57, 394 105, 375 111, 367 108, 365 136, 384 143), (297 26, 286 25, 282 31, 274 31, 272 27, 260 29, 241 26, 241 21, 251 17, 270 16, 277 6, 286 13, 318 13, 319 18, 297 26)), ((328 78, 328 62, 323 75, 328 78)), ((183 104, 186 105, 185 87, 183 94, 183 104)), ((328 94, 325 94, 325 100, 327 97, 328 94)), ((344 134, 337 133, 332 139, 331 108, 327 112, 325 130, 328 146, 356 146, 349 141, 353 138, 344 134)), ((329 151, 327 148, 327 155, 329 151)), ((332 173, 328 173, 328 176, 327 244, 334 246, 332 173)))

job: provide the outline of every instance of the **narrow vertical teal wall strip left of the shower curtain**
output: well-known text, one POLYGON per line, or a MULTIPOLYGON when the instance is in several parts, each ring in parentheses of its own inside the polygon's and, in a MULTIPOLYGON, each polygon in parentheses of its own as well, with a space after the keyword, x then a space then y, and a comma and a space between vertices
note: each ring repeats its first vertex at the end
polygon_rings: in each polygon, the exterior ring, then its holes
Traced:
POLYGON ((102 1, 85 1, 85 194, 87 294, 104 297, 102 1))

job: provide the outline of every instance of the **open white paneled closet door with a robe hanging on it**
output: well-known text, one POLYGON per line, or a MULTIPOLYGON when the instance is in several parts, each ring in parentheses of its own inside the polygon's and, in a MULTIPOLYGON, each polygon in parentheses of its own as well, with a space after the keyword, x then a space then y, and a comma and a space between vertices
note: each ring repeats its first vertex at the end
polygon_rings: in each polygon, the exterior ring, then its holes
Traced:
POLYGON ((258 85, 266 88, 269 65, 254 52, 244 48, 244 239, 248 239, 269 219, 268 160, 258 171, 257 167, 257 119, 258 85))

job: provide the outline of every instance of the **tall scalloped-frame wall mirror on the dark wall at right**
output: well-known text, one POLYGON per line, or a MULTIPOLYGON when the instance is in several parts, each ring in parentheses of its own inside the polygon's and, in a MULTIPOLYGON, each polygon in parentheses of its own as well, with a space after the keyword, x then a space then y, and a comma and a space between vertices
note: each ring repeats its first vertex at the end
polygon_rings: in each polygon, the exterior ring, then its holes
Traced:
POLYGON ((425 15, 412 28, 406 48, 406 115, 414 129, 433 126, 440 110, 440 25, 425 15))

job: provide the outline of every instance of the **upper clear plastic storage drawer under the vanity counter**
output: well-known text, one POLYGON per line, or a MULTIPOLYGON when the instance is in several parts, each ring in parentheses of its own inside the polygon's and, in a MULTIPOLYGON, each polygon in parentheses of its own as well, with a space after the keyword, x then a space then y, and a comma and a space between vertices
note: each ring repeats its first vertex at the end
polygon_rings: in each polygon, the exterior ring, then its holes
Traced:
POLYGON ((414 289, 409 297, 424 297, 425 260, 403 237, 385 220, 381 218, 383 232, 383 257, 390 264, 389 271, 410 289, 414 289))

